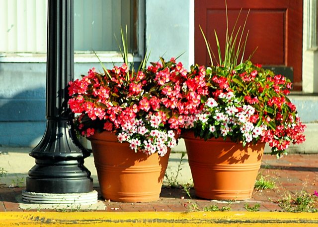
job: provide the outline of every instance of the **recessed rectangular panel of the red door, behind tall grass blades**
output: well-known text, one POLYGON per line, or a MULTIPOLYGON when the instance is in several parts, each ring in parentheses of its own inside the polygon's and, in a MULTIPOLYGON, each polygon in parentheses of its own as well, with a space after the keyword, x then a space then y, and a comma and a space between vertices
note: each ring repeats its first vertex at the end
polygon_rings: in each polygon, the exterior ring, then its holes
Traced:
MULTIPOLYGON (((232 32, 235 22, 237 20, 239 10, 229 10, 229 31, 232 32)), ((207 28, 215 28, 221 47, 225 46, 226 33, 226 18, 224 17, 224 10, 208 10, 207 11, 207 28), (220 18, 217 21, 213 18, 220 18)), ((240 30, 244 25, 244 20, 247 15, 247 10, 241 12, 238 25, 241 25, 240 30)), ((255 63, 262 62, 263 64, 284 64, 285 63, 285 40, 284 40, 284 11, 269 11, 269 10, 251 10, 246 22, 246 29, 242 41, 248 32, 248 39, 245 48, 245 59, 251 55, 257 48, 252 61, 255 63), (274 23, 271 23, 273 21, 274 23), (249 31, 248 31, 249 30, 249 31), (258 53, 262 53, 261 55, 258 53)), ((237 26, 239 29, 239 26, 237 26)), ((214 30, 208 29, 207 35, 213 52, 217 53, 214 30)), ((238 37, 239 39, 239 37, 238 37)), ((222 49, 222 56, 224 56, 224 48, 222 49)), ((206 59, 205 62, 208 62, 206 59)))

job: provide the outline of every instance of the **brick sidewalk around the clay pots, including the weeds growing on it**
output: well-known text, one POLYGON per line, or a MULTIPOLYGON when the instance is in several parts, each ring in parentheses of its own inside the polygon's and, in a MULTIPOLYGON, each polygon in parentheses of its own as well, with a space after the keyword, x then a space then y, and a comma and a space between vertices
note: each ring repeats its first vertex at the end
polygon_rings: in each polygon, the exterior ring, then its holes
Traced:
MULTIPOLYGON (((2 176, 5 177, 5 176, 2 176)), ((273 189, 254 189, 252 198, 244 201, 211 201, 197 198, 194 189, 189 185, 171 187, 163 184, 160 198, 155 202, 147 203, 120 203, 105 200, 101 197, 99 188, 99 202, 105 205, 104 211, 110 212, 143 212, 143 211, 287 211, 287 212, 315 212, 318 209, 318 155, 290 154, 281 159, 275 156, 264 155, 261 169, 257 179, 274 182, 273 189), (191 198, 190 198, 190 197, 191 198)), ((267 182, 267 183, 266 183, 267 182)), ((13 185, 14 186, 14 185, 13 185)), ((1 185, 0 187, 0 211, 58 211, 55 206, 52 209, 21 209, 21 193, 24 187, 1 185), (9 187, 10 186, 10 187, 9 187)), ((24 206, 25 207, 25 206, 24 206)), ((70 206, 71 211, 81 211, 70 206)), ((87 210, 87 209, 85 209, 87 210)), ((89 210, 89 209, 88 209, 89 210)), ((100 211, 93 210, 90 211, 100 211)))

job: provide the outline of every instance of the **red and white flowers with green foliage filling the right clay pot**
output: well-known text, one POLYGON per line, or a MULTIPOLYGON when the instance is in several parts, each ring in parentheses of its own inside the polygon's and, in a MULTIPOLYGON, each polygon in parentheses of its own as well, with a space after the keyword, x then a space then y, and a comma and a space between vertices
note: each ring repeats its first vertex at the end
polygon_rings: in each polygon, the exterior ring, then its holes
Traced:
MULTIPOLYGON (((192 66, 195 71, 199 66, 192 66)), ((270 70, 243 62, 234 69, 211 66, 206 70, 208 94, 198 114, 189 114, 185 128, 196 136, 230 138, 232 141, 266 142, 272 154, 305 141, 305 125, 287 98, 291 82, 270 70)))

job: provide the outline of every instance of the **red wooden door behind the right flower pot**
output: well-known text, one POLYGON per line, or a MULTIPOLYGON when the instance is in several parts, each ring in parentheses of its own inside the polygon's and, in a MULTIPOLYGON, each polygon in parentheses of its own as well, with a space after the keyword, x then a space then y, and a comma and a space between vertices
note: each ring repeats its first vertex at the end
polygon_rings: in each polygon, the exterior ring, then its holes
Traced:
MULTIPOLYGON (((294 90, 302 88, 302 0, 227 0, 229 31, 232 31, 239 10, 242 12, 237 27, 244 24, 250 9, 245 34, 249 31, 244 58, 253 63, 272 67, 278 74, 292 77, 294 90), (287 75, 286 75, 287 74, 287 75), (291 74, 291 75, 289 75, 291 74)), ((201 25, 212 50, 217 54, 214 30, 221 49, 224 49, 226 35, 225 0, 195 0, 195 62, 208 64, 201 25)))

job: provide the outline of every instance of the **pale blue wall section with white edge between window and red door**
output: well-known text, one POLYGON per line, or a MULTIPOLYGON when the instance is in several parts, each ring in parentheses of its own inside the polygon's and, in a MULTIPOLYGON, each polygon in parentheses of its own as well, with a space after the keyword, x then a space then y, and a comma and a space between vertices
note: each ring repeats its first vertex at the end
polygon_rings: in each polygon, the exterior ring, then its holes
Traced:
POLYGON ((147 0, 146 40, 150 61, 179 60, 189 68, 194 63, 194 0, 147 0))

